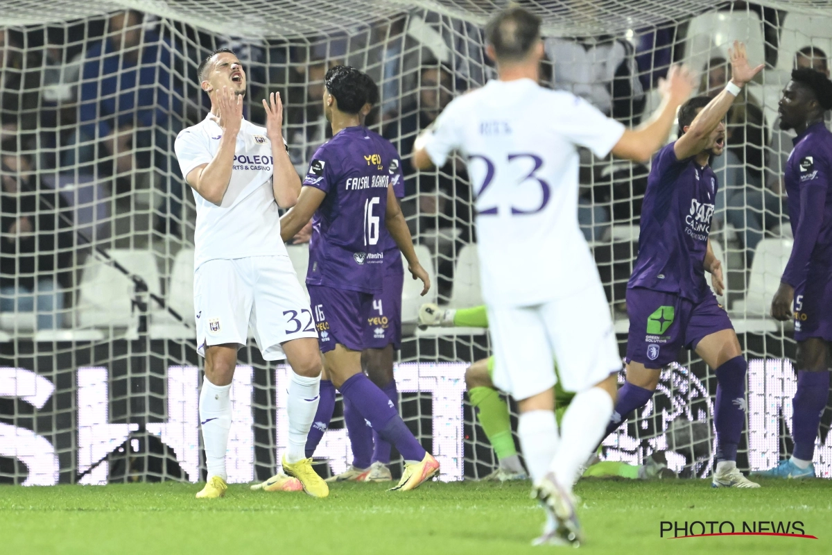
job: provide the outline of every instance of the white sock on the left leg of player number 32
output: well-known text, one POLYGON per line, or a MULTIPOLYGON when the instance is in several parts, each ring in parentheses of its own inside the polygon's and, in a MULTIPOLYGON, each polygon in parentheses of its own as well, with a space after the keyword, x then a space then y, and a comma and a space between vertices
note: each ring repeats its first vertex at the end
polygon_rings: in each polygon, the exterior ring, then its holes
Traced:
POLYGON ((206 448, 208 479, 219 476, 228 480, 225 473, 225 452, 228 450, 228 434, 231 429, 231 384, 214 385, 208 378, 202 379, 200 391, 200 423, 202 443, 206 448))

